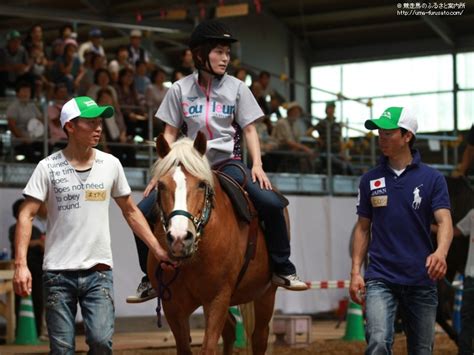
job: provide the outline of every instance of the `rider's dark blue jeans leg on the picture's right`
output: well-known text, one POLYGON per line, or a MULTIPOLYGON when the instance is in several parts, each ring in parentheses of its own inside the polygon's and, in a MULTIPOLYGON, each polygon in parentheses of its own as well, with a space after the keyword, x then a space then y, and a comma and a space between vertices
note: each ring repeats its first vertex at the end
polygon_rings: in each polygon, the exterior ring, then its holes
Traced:
MULTIPOLYGON (((268 253, 276 273, 290 275, 296 272, 296 268, 290 261, 290 240, 283 214, 285 205, 278 195, 271 191, 260 188, 260 184, 252 182, 252 174, 249 168, 239 160, 232 160, 232 164, 240 165, 246 172, 247 183, 244 189, 248 192, 250 200, 257 209, 260 220, 265 225, 265 236, 268 253)), ((244 177, 242 171, 234 165, 224 165, 220 169, 223 173, 234 178, 242 185, 244 177)))

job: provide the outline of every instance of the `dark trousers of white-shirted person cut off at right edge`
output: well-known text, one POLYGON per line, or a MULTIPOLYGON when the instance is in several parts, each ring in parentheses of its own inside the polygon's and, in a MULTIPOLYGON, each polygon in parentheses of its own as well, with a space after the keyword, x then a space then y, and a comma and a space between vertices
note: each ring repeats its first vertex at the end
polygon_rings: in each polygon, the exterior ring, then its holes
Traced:
POLYGON ((474 351, 474 277, 464 279, 461 306, 461 333, 459 355, 472 355, 474 351))

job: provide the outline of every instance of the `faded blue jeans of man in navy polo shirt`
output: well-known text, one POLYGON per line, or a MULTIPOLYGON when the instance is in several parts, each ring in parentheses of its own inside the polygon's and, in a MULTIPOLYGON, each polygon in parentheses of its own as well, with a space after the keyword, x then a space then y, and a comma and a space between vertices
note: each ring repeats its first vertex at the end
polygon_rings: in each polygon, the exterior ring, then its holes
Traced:
POLYGON ((366 355, 392 354, 394 321, 400 307, 409 355, 432 354, 438 295, 436 286, 366 283, 366 355))

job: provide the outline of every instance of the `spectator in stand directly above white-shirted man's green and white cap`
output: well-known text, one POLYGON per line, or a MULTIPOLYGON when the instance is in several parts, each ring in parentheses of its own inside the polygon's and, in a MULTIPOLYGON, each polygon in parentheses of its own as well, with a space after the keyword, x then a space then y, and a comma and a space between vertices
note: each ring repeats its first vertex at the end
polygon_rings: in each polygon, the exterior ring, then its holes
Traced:
POLYGON ((51 75, 55 83, 66 83, 69 95, 72 96, 85 72, 77 56, 77 42, 67 39, 64 44, 64 53, 56 58, 51 75))

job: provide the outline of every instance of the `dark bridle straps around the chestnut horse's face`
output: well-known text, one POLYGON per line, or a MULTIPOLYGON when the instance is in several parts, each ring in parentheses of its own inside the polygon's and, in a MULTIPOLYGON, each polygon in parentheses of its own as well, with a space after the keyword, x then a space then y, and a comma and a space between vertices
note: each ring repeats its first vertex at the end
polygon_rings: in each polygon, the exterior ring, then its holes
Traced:
POLYGON ((157 194, 156 194, 156 203, 158 205, 161 225, 163 226, 163 230, 165 231, 165 233, 168 230, 168 225, 171 221, 171 218, 175 216, 186 217, 187 219, 191 221, 194 227, 194 230, 196 232, 196 238, 194 240, 194 245, 193 245, 193 252, 195 252, 198 248, 199 241, 201 240, 202 230, 204 229, 204 226, 207 224, 207 222, 209 221, 209 217, 211 216, 211 211, 213 207, 213 203, 212 203, 213 197, 214 197, 214 191, 211 188, 211 186, 206 183, 205 191, 204 191, 204 207, 202 209, 200 217, 193 216, 191 213, 184 210, 173 210, 171 211, 169 215, 166 215, 163 212, 163 208, 161 206, 160 190, 158 189, 157 194))

